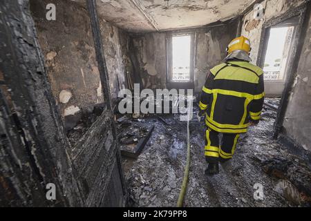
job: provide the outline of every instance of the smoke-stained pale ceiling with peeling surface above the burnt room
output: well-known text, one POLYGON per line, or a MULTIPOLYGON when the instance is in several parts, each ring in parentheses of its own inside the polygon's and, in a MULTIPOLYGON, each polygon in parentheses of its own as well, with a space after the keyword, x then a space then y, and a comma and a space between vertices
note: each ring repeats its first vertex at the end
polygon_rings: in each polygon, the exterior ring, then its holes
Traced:
MULTIPOLYGON (((82 1, 82 0, 76 0, 82 1)), ((106 21, 131 32, 205 26, 232 19, 255 0, 97 0, 106 21)))

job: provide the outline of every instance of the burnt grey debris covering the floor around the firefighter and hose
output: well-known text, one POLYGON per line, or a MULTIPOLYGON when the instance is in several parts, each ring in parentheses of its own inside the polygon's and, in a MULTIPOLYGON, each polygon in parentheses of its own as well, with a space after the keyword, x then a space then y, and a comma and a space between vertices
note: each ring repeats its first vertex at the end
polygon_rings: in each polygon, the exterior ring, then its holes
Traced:
MULTIPOLYGON (((194 116, 196 112, 195 108, 194 116)), ((220 174, 214 177, 204 174, 204 122, 193 117, 184 206, 309 206, 310 167, 272 140, 275 117, 275 111, 265 108, 261 122, 241 135, 233 173, 225 173, 220 166, 220 174), (283 160, 279 163, 277 159, 283 160), (256 184, 263 186, 263 200, 254 199, 256 184)), ((181 122, 178 115, 161 115, 145 117, 140 122, 140 127, 143 125, 154 126, 146 147, 137 160, 123 159, 129 205, 176 206, 187 158, 187 122, 181 122)))

